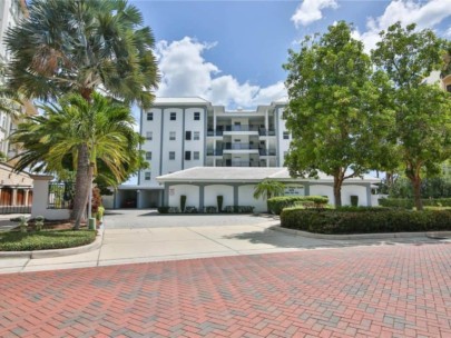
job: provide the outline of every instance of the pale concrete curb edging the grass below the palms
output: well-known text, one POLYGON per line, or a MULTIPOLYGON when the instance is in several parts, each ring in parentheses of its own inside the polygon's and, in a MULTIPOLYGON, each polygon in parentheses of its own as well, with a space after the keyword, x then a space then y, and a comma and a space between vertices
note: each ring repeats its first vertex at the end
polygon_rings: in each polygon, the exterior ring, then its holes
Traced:
POLYGON ((0 251, 0 258, 51 258, 70 255, 85 254, 100 248, 104 238, 104 229, 97 230, 97 236, 94 242, 75 248, 50 249, 50 250, 33 250, 33 251, 0 251))

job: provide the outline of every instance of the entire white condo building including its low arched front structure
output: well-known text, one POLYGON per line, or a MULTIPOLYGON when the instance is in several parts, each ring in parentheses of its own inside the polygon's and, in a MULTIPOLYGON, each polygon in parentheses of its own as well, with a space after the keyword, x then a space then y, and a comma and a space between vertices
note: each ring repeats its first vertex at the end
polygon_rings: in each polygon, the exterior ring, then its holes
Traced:
MULTIPOLYGON (((202 98, 157 98, 141 111, 141 146, 149 168, 138 175, 137 186, 120 186, 114 208, 153 208, 179 205, 199 211, 214 207, 222 195, 227 206, 254 206, 255 185, 265 178, 284 181, 291 195, 329 196, 333 201, 333 179, 291 178, 284 166, 291 135, 283 111, 286 101, 258 106, 255 110, 226 110, 202 98)), ((371 185, 366 177, 345 183, 343 200, 357 195, 361 205, 371 206, 371 185)))

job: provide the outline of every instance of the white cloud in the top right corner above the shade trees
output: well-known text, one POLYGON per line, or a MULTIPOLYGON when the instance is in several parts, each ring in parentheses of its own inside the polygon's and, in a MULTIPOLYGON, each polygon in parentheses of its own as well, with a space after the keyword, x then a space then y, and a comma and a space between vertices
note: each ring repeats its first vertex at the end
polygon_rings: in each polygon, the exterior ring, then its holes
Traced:
POLYGON ((365 43, 370 51, 380 40, 379 32, 391 24, 401 21, 403 26, 415 22, 418 29, 434 28, 451 16, 451 0, 430 0, 419 2, 414 0, 392 0, 379 18, 366 20, 366 31, 355 31, 354 37, 365 43))

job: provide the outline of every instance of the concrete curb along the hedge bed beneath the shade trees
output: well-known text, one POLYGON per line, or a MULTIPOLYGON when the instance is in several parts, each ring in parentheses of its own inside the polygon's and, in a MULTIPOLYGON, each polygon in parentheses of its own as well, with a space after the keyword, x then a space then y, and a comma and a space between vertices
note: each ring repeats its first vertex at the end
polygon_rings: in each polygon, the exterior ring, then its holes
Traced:
POLYGON ((430 231, 430 232, 384 232, 384 233, 356 233, 356 235, 325 235, 314 233, 302 230, 286 229, 281 226, 273 226, 271 230, 281 231, 290 235, 302 236, 315 239, 329 239, 329 240, 345 240, 345 239, 390 239, 390 238, 415 238, 415 237, 429 237, 434 239, 451 238, 451 231, 430 231))

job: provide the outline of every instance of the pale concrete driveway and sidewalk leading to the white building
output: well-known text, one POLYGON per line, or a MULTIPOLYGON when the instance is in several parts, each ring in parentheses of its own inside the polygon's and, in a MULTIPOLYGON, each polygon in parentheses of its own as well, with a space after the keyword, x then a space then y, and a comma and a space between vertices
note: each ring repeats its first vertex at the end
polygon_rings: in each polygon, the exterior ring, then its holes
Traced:
POLYGON ((268 217, 154 215, 146 218, 144 216, 149 216, 148 212, 144 212, 143 217, 137 216, 136 212, 139 211, 135 211, 135 215, 122 211, 107 216, 99 249, 53 258, 0 258, 0 274, 317 248, 440 241, 423 237, 390 240, 326 240, 274 231, 269 228, 278 225, 278 220, 268 217), (180 227, 180 223, 184 226, 180 227))

